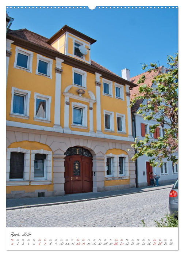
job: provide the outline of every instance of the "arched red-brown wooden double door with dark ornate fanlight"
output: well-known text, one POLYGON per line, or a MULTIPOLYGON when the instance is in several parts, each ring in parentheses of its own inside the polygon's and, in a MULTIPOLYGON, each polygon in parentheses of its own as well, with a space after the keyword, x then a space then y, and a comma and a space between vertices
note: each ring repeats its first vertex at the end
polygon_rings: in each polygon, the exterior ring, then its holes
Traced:
POLYGON ((65 155, 65 194, 92 192, 92 154, 86 148, 70 147, 65 155))

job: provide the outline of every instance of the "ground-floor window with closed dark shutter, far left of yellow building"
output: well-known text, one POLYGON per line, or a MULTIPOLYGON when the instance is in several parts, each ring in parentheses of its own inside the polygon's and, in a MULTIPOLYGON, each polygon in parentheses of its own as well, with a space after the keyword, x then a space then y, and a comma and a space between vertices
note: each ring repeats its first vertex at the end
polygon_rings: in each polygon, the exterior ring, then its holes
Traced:
POLYGON ((9 178, 24 178, 24 153, 11 152, 9 178))

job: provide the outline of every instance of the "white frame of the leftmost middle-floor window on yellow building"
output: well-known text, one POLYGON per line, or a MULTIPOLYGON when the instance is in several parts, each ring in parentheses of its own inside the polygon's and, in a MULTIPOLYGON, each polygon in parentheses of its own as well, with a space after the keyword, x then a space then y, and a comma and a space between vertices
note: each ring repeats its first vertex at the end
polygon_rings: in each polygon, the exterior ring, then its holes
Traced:
POLYGON ((21 90, 19 88, 12 87, 12 98, 11 98, 11 108, 10 108, 10 116, 11 117, 19 117, 24 119, 29 119, 29 103, 30 103, 30 95, 31 92, 27 90, 21 90), (14 105, 14 94, 21 94, 24 96, 24 114, 14 113, 13 105, 14 105))

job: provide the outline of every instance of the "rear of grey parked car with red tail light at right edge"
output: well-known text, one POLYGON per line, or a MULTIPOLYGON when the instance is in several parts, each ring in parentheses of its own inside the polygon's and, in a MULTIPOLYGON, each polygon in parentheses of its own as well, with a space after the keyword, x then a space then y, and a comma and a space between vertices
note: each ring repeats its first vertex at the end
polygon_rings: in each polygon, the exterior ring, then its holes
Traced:
POLYGON ((174 214, 176 217, 178 216, 178 179, 169 194, 169 211, 170 214, 174 214))

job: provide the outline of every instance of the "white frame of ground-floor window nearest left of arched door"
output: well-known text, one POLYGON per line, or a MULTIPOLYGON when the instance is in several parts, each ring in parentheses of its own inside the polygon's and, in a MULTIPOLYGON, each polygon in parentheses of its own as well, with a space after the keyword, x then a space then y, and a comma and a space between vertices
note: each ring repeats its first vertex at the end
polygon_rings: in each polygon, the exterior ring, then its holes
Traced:
POLYGON ((51 181, 52 181, 52 151, 47 151, 47 150, 43 150, 43 149, 31 150, 30 180, 31 180, 31 185, 51 184, 51 181), (44 178, 35 178, 34 177, 35 154, 46 155, 45 177, 44 178))

